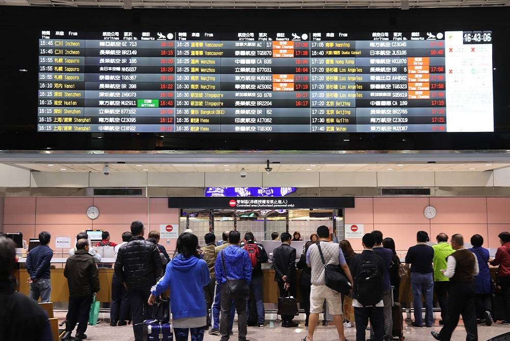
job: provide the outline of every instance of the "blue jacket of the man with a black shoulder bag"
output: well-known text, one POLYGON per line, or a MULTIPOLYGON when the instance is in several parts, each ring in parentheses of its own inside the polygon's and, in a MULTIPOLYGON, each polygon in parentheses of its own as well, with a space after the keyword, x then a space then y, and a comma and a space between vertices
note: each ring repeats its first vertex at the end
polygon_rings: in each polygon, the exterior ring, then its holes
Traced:
POLYGON ((221 284, 226 282, 226 277, 230 279, 244 279, 251 282, 251 261, 243 248, 231 244, 227 248, 220 250, 216 256, 216 263, 214 264, 214 271, 216 273, 216 282, 221 284), (225 258, 226 273, 223 269, 223 261, 221 255, 225 258))

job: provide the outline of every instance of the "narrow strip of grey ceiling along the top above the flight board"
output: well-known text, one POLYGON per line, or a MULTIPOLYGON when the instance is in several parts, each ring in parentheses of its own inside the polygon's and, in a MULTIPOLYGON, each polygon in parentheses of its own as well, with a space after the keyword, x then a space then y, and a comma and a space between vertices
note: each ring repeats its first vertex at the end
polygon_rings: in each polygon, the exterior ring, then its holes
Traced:
POLYGON ((4 6, 100 8, 441 8, 510 6, 510 0, 0 0, 4 6))

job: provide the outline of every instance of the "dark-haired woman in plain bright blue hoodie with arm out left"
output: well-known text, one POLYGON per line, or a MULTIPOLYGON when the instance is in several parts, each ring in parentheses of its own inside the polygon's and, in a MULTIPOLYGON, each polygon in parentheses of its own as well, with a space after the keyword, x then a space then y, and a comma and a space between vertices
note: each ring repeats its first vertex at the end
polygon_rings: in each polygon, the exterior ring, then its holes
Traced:
POLYGON ((150 290, 148 303, 170 288, 170 309, 176 341, 202 341, 206 326, 206 300, 203 287, 209 284, 209 268, 199 259, 198 238, 185 232, 177 239, 179 254, 166 266, 165 276, 150 290))

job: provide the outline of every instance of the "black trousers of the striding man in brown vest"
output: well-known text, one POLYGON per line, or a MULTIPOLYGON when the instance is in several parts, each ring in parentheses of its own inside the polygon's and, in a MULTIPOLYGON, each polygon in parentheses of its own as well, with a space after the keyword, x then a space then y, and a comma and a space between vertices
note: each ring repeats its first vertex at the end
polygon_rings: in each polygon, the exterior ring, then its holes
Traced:
POLYGON ((462 315, 466 328, 466 341, 477 341, 475 291, 472 282, 450 282, 448 290, 449 316, 439 332, 442 341, 450 341, 451 334, 457 327, 458 319, 462 315))

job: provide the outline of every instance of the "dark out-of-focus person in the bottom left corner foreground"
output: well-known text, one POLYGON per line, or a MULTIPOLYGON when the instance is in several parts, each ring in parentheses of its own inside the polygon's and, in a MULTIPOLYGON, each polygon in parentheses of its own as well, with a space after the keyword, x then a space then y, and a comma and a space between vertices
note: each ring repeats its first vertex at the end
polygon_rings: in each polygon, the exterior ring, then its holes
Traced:
POLYGON ((16 244, 0 237, 0 339, 53 341, 46 312, 33 299, 16 292, 12 276, 16 244))

